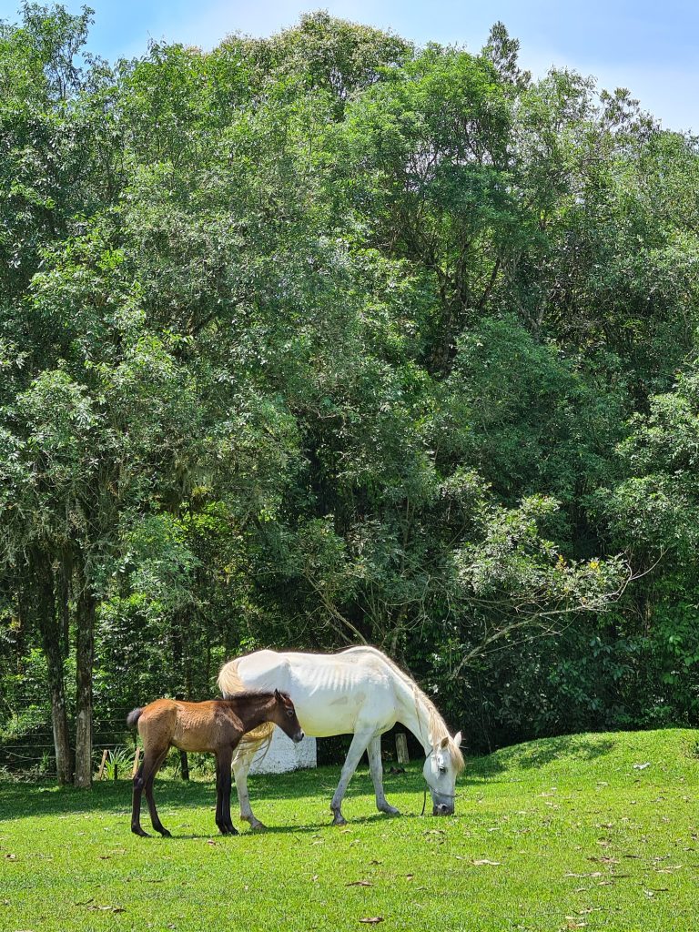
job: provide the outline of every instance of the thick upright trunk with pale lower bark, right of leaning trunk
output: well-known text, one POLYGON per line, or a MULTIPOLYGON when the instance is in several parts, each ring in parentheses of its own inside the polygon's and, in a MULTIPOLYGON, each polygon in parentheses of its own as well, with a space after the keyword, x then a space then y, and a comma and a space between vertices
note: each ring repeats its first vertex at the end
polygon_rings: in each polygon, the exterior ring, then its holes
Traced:
POLYGON ((92 785, 92 668, 95 656, 95 598, 80 573, 75 611, 75 786, 92 785))

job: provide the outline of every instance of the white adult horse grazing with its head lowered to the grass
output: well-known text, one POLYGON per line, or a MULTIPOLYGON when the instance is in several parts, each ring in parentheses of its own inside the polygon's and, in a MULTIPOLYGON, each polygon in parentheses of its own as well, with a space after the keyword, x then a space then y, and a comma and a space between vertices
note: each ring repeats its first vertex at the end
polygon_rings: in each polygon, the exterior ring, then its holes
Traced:
MULTIPOLYGON (((256 651, 224 665, 218 685, 226 697, 251 689, 288 692, 307 734, 327 737, 353 733, 330 803, 335 825, 346 824, 342 800, 365 750, 377 809, 398 815, 398 810, 386 801, 381 767, 381 734, 397 721, 410 729, 425 749, 422 773, 432 794, 432 814, 453 814, 456 778, 464 766, 459 750, 461 733, 452 738, 425 693, 376 648, 352 647, 336 654, 256 651)), ((264 826, 250 805, 248 771, 255 752, 268 744, 273 729, 273 725, 265 724, 246 734, 233 759, 240 818, 250 822, 253 829, 264 826)))

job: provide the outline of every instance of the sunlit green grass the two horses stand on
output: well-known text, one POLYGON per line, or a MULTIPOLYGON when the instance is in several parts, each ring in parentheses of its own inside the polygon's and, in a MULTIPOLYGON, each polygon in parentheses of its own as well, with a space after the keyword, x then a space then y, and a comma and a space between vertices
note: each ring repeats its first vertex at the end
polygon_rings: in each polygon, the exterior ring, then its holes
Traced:
MULTIPOLYGON (((419 816, 420 765, 363 771, 329 825, 338 768, 255 777, 265 834, 222 837, 211 783, 160 779, 172 839, 130 833, 130 785, 0 785, 0 930, 669 932, 699 925, 697 734, 583 734, 469 761, 458 815, 419 816), (634 764, 650 762, 644 769, 634 764), (368 885, 349 885, 363 881, 368 885)), ((144 826, 148 826, 144 814, 144 826)))

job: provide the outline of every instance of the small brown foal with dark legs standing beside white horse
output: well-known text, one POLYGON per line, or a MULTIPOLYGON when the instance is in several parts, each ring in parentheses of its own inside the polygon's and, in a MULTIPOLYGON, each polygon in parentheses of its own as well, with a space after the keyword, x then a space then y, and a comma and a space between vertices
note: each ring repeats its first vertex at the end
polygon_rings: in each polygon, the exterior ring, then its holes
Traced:
POLYGON ((180 702, 157 699, 144 708, 134 708, 127 723, 138 726, 144 743, 144 760, 133 777, 131 831, 148 838, 141 828, 141 794, 145 790, 153 828, 171 838, 156 809, 153 780, 171 747, 183 751, 209 751, 216 755, 216 825, 224 835, 237 835, 230 817, 230 764, 233 751, 244 733, 265 721, 279 725, 292 741, 304 733, 296 718, 294 703, 285 692, 240 692, 231 699, 210 702, 180 702))

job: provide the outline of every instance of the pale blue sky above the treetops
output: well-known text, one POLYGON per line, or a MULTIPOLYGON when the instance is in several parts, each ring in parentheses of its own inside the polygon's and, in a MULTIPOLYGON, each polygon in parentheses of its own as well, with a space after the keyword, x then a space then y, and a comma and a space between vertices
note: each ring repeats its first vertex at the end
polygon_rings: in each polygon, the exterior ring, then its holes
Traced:
MULTIPOLYGON (((226 34, 269 35, 319 7, 418 43, 477 51, 501 20, 521 42, 534 75, 555 64, 595 75, 602 87, 631 90, 667 129, 699 133, 699 4, 696 0, 88 0, 95 9, 89 48, 114 60, 144 52, 149 38, 212 48, 226 34)), ((18 3, 0 0, 0 19, 18 3)), ((67 0, 76 11, 81 4, 67 0)))

